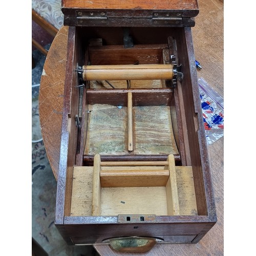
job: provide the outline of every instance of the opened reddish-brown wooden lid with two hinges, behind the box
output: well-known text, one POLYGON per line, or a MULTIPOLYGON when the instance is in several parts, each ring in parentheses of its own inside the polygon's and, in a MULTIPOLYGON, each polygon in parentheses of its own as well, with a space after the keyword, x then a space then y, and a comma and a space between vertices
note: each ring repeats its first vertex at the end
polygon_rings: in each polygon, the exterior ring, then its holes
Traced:
POLYGON ((193 27, 197 0, 62 0, 67 26, 193 27))

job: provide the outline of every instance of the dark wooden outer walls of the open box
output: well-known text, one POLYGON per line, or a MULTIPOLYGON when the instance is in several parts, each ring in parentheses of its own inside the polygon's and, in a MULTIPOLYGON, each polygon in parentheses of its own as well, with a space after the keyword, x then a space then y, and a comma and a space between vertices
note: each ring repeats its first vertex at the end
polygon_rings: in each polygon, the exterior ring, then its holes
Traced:
MULTIPOLYGON (((108 38, 106 44, 113 42, 122 44, 122 37, 118 38, 116 34, 118 30, 120 29, 103 30, 98 28, 96 31, 93 28, 88 28, 86 34, 92 37, 97 33, 101 33, 103 37, 109 34, 106 36, 108 38)), ((142 28, 135 29, 133 34, 136 35, 141 31, 142 28)), ((161 38, 168 38, 169 36, 169 28, 143 28, 143 31, 145 33, 143 40, 154 41, 156 44, 162 43, 161 38), (154 38, 154 32, 158 33, 160 39, 154 38), (154 40, 152 40, 153 38, 154 40)), ((171 33, 177 40, 177 55, 179 62, 182 63, 184 79, 181 83, 178 82, 170 105, 175 106, 177 118, 180 120, 177 124, 180 159, 177 160, 181 160, 182 165, 193 166, 198 216, 157 216, 155 223, 136 224, 118 223, 117 216, 70 216, 72 168, 75 164, 83 164, 84 161, 81 150, 78 155, 76 154, 78 129, 75 125, 79 94, 76 87, 78 77, 74 70, 79 63, 87 61, 82 59, 86 49, 82 47, 80 32, 81 28, 69 28, 56 198, 56 227, 70 245, 74 245, 74 240, 83 244, 101 244, 104 239, 127 236, 160 237, 164 239, 164 243, 197 243, 215 225, 217 216, 199 99, 191 29, 173 28, 171 33), (90 236, 88 236, 89 233, 90 236)), ((145 43, 143 40, 141 44, 145 43)), ((86 97, 84 94, 84 109, 88 100, 86 97)), ((84 114, 82 122, 86 119, 86 114, 84 114)), ((83 134, 81 138, 84 140, 86 131, 82 131, 81 134, 83 134)))

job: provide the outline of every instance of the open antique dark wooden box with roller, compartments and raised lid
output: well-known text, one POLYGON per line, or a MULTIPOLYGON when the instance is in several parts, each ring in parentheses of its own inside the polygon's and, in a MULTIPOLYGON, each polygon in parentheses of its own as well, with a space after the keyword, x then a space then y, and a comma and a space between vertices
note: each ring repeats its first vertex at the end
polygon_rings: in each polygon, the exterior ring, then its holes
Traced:
POLYGON ((197 243, 217 221, 196 0, 62 0, 69 27, 55 225, 70 245, 197 243))

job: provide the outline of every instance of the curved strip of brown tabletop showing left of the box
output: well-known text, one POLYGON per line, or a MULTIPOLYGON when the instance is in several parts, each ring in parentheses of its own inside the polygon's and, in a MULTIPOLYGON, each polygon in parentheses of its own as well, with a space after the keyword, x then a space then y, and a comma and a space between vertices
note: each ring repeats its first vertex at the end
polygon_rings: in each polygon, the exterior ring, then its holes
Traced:
POLYGON ((46 153, 57 179, 62 122, 68 27, 54 38, 42 71, 39 90, 39 117, 46 153))

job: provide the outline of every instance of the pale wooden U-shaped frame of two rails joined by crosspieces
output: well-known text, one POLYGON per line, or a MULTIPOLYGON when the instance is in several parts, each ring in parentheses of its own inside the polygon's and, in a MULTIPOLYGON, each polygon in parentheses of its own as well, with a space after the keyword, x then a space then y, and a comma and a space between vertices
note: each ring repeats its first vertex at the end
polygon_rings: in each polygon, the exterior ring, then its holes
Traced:
MULTIPOLYGON (((186 166, 179 167, 186 168, 186 166)), ((92 216, 100 215, 101 187, 150 186, 165 187, 167 214, 180 215, 174 155, 169 155, 167 161, 152 162, 101 162, 100 156, 98 154, 95 155, 93 167, 92 216), (102 169, 102 167, 105 167, 105 169, 102 169)))

